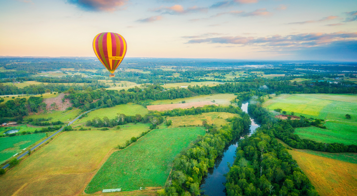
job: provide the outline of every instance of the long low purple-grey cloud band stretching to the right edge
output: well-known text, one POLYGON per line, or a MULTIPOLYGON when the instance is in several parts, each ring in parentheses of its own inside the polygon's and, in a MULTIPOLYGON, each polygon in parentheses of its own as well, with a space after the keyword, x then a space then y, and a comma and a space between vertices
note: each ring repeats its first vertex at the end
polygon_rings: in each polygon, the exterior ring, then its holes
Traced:
POLYGON ((223 36, 199 38, 185 36, 190 39, 188 44, 211 43, 211 44, 235 44, 235 45, 257 45, 271 47, 274 49, 290 48, 299 49, 315 46, 329 45, 336 41, 356 41, 357 32, 336 32, 336 33, 301 33, 287 36, 273 35, 269 37, 244 37, 244 36, 223 36))

